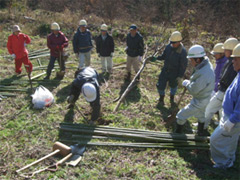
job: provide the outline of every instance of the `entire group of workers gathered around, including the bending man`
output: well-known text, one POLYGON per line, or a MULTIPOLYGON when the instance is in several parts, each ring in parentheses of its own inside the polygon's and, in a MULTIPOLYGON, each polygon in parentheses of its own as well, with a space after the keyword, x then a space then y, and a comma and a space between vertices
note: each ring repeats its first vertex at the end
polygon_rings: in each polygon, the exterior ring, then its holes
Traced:
MULTIPOLYGON (((49 79, 58 60, 62 75, 65 73, 64 48, 68 46, 68 39, 60 31, 57 23, 51 25, 52 33, 47 37, 50 49, 50 61, 47 68, 49 79)), ((28 59, 26 45, 30 43, 29 36, 21 33, 19 26, 13 27, 13 34, 8 38, 7 48, 15 59, 15 71, 21 73, 24 63, 27 72, 32 71, 32 64, 28 59)), ((170 43, 158 57, 150 57, 148 61, 164 60, 158 82, 159 93, 157 106, 164 106, 165 89, 170 86, 170 102, 174 103, 174 96, 179 85, 184 86, 192 95, 191 102, 181 109, 177 115, 176 133, 183 133, 184 124, 189 117, 198 119, 198 135, 210 135, 208 126, 212 116, 219 112, 221 120, 210 138, 210 150, 216 168, 229 168, 235 161, 235 152, 240 135, 240 44, 236 38, 229 38, 224 43, 214 46, 211 54, 216 59, 215 70, 206 56, 201 45, 193 45, 188 52, 183 46, 182 35, 175 31, 169 38, 170 43), (191 77, 183 80, 188 59, 194 67, 191 77)), ((73 37, 73 51, 79 59, 75 79, 72 82, 70 95, 67 98, 70 107, 74 107, 80 93, 92 107, 92 120, 96 120, 100 113, 99 75, 90 67, 91 51, 93 49, 91 32, 87 29, 86 20, 79 22, 79 27, 73 37)), ((136 25, 131 25, 127 35, 126 79, 131 78, 131 68, 137 73, 144 53, 144 41, 136 25)), ((114 56, 114 40, 108 33, 108 26, 101 25, 101 34, 96 39, 96 51, 102 62, 103 73, 112 73, 112 58, 114 56)), ((140 80, 140 76, 137 77, 140 80)))

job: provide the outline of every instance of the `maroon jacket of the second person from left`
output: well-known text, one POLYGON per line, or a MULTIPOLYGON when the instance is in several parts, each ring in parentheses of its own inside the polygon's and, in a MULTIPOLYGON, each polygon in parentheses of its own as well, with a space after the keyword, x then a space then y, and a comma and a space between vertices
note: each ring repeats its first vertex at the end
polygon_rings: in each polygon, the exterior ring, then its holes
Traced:
POLYGON ((50 49, 51 56, 59 57, 59 51, 56 49, 57 46, 68 46, 68 39, 66 36, 59 31, 58 35, 56 36, 54 33, 51 33, 47 37, 47 46, 50 49))

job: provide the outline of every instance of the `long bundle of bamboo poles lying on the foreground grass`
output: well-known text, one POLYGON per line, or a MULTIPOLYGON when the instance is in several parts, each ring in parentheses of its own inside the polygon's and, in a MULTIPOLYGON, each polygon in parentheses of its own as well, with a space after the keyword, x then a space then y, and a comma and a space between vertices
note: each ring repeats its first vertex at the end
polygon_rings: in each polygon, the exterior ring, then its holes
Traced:
POLYGON ((165 149, 209 148, 209 137, 196 136, 194 134, 178 134, 68 123, 61 123, 59 131, 62 142, 78 143, 87 146, 148 147, 165 149), (92 139, 94 139, 94 142, 91 142, 92 139), (96 142, 96 139, 99 139, 98 142, 96 142), (128 141, 128 143, 122 143, 122 141, 128 141))

